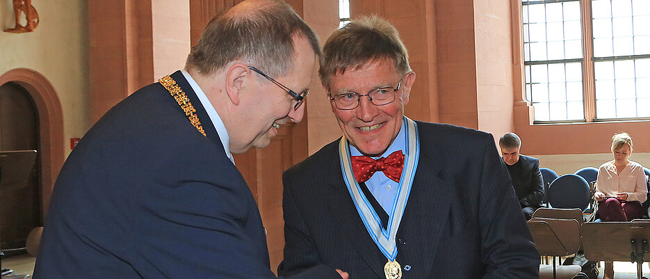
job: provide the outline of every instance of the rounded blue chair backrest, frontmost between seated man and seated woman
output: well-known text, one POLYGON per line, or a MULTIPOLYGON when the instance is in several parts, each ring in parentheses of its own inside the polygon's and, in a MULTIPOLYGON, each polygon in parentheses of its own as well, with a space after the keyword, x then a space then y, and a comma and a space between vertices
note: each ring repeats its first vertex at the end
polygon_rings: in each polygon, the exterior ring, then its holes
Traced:
POLYGON ((583 212, 591 201, 587 180, 579 175, 562 175, 549 186, 549 204, 555 208, 579 208, 583 212))

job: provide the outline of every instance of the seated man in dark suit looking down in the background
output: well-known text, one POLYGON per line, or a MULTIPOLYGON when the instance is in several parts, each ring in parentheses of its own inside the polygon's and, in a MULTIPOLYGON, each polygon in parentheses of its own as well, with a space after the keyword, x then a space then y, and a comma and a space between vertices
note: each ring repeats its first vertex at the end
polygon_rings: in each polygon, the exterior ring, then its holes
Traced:
POLYGON ((544 180, 539 171, 539 159, 519 154, 521 139, 517 134, 507 133, 498 140, 503 161, 507 166, 514 193, 517 193, 521 213, 530 220, 533 212, 542 207, 544 198, 544 180))

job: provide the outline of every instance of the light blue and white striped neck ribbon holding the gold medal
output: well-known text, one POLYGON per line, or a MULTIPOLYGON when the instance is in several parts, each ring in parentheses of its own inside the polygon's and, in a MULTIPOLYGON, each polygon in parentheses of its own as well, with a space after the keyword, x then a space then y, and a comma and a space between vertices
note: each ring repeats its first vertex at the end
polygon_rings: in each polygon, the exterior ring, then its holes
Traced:
POLYGON ((341 158, 343 180, 345 180, 346 186, 348 186, 350 196, 355 202, 359 217, 361 217, 361 221, 364 221, 368 234, 370 234, 377 247, 379 247, 389 262, 395 260, 397 257, 395 238, 397 230, 400 228, 406 203, 409 200, 411 186, 420 157, 420 138, 416 123, 404 116, 402 125, 406 128, 404 170, 400 177, 396 202, 389 214, 387 230, 384 230, 384 226, 382 226, 382 221, 377 215, 377 212, 375 212, 370 202, 368 202, 368 199, 361 191, 361 187, 359 187, 359 183, 355 180, 355 173, 352 171, 352 161, 350 160, 348 140, 343 136, 341 141, 339 141, 339 157, 341 158))

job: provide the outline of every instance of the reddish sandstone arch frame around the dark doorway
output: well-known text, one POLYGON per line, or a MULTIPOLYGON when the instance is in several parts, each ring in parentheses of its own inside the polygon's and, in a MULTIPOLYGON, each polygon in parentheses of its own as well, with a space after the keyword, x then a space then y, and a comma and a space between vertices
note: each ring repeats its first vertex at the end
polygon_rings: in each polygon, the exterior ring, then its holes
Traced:
MULTIPOLYGON (((11 92, 20 92, 20 95, 22 96, 16 97, 18 96, 17 94, 10 94, 15 95, 11 98, 17 98, 13 99, 12 102, 21 104, 24 107, 31 104, 31 109, 33 111, 32 121, 36 127, 34 134, 37 135, 37 137, 34 140, 35 143, 32 145, 35 145, 38 148, 38 171, 35 172, 34 175, 38 179, 38 203, 40 203, 40 206, 36 207, 38 209, 35 209, 35 212, 32 212, 31 214, 33 214, 33 216, 39 216, 38 223, 42 224, 42 219, 47 218, 47 209, 49 207, 52 190, 54 189, 56 176, 58 175, 61 166, 63 166, 63 159, 65 159, 63 111, 61 109, 58 95, 54 90, 54 86, 52 86, 52 84, 39 72, 26 68, 10 70, 0 76, 0 86, 3 87, 6 85, 8 85, 6 90, 10 90, 11 92)), ((6 109, 0 108, 0 111, 4 113, 6 109)), ((12 119, 15 118, 15 115, 2 116, 2 118, 12 119)), ((10 122, 11 120, 7 121, 10 122)), ((17 120, 17 123, 18 125, 22 125, 21 123, 24 123, 24 120, 17 120)), ((11 136, 3 136, 3 138, 11 138, 11 136)), ((17 145, 18 143, 15 144, 17 145)), ((0 150, 2 150, 1 145, 0 150)), ((22 205, 20 205, 20 208, 22 209, 22 205)), ((29 225, 33 224, 27 223, 25 226, 29 225)), ((2 224, 0 226, 4 227, 6 225, 2 224)), ((31 228, 33 228, 33 226, 31 228)), ((29 230, 31 230, 31 228, 29 228, 29 230)), ((27 231, 28 234, 29 230, 27 231)), ((26 238, 26 235, 27 234, 22 237, 26 238)), ((5 247, 2 248, 5 249, 5 247)))

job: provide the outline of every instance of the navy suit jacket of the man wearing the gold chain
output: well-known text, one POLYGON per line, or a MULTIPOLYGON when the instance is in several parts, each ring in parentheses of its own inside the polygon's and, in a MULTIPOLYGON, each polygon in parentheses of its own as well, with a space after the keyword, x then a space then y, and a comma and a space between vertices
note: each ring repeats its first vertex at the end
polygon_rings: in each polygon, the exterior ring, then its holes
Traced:
POLYGON ((160 83, 114 106, 58 176, 34 278, 275 278, 250 189, 183 74, 172 78, 207 136, 160 83))

